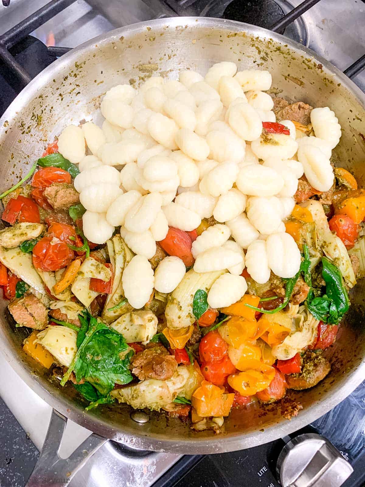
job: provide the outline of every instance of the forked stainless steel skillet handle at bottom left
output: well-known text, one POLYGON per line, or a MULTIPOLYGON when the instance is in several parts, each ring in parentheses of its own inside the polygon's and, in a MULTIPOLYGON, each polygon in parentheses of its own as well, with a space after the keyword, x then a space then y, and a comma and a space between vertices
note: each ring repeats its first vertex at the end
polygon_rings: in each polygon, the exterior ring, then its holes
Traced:
POLYGON ((60 458, 58 450, 66 422, 67 419, 62 414, 55 410, 52 411, 46 439, 25 487, 39 487, 43 484, 59 486, 62 480, 63 484, 69 483, 74 474, 85 465, 95 451, 108 441, 107 438, 92 433, 73 451, 69 458, 60 458))

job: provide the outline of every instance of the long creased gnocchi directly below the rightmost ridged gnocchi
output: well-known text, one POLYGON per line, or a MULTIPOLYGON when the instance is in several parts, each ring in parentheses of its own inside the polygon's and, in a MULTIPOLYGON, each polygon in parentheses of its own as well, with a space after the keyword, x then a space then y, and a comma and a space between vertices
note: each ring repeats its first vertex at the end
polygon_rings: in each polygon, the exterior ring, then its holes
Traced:
POLYGON ((303 164, 310 185, 318 191, 328 191, 333 185, 334 174, 330 160, 322 150, 308 145, 301 146, 298 160, 303 164))

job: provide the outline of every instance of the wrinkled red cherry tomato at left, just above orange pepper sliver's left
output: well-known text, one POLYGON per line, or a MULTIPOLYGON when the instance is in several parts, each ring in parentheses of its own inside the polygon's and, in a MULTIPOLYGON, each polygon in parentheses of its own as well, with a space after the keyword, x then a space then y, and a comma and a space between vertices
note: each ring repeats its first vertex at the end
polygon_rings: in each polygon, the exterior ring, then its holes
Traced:
POLYGON ((33 248, 33 264, 43 271, 57 271, 73 261, 73 250, 66 242, 56 241, 52 235, 43 237, 33 248))

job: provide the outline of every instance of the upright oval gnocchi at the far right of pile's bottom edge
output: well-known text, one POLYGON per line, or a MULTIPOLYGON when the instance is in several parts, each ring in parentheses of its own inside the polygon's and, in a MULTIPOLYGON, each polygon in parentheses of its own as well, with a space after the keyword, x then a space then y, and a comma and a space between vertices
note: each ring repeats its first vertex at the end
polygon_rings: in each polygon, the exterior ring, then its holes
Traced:
POLYGON ((269 267, 276 276, 291 278, 299 271, 300 251, 289 233, 269 235, 266 239, 266 252, 269 267))

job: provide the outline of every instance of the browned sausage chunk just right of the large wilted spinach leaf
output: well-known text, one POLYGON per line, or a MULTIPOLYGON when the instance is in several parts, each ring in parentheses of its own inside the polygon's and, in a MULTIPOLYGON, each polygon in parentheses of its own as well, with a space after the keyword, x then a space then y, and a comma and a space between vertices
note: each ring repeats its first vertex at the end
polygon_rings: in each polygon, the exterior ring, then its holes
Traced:
POLYGON ((132 374, 137 375, 140 380, 167 380, 178 368, 175 357, 169 355, 164 347, 155 345, 157 346, 138 352, 131 360, 132 374))

